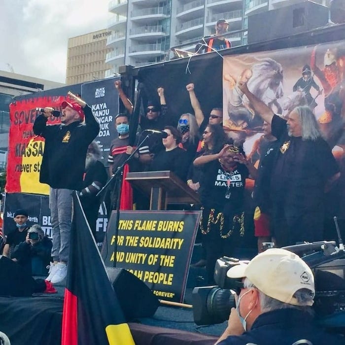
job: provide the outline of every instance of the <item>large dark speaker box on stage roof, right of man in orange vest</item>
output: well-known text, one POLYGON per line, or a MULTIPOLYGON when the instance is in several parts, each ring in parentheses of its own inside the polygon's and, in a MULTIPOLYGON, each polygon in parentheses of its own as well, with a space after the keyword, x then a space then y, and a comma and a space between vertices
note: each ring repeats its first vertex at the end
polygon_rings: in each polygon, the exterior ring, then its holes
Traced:
POLYGON ((300 34, 328 24, 328 7, 311 1, 248 16, 248 43, 300 34))

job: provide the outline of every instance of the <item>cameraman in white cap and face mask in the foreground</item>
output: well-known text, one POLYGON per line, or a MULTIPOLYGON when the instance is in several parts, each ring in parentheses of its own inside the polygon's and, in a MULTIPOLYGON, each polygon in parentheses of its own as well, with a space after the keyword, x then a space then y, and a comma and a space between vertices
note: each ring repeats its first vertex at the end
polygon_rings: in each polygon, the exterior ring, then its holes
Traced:
POLYGON ((238 279, 239 288, 236 309, 217 345, 345 344, 344 337, 328 334, 314 322, 314 277, 298 255, 268 249, 227 275, 238 279))

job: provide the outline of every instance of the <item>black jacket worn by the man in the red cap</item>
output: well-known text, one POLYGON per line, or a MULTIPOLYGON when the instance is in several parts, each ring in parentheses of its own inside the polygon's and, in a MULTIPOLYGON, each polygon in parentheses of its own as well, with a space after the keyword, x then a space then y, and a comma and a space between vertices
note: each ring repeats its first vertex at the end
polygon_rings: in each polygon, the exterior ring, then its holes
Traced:
POLYGON ((35 135, 45 138, 39 182, 52 188, 81 190, 89 144, 97 137, 100 125, 91 108, 84 107, 85 123, 46 125, 42 114, 35 119, 35 135))

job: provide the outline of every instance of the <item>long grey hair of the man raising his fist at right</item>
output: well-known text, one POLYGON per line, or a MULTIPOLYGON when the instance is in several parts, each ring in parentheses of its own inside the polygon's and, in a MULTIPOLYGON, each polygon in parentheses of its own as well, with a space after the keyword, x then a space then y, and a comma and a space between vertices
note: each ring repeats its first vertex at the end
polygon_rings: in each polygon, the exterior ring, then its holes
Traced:
POLYGON ((296 106, 292 111, 296 111, 302 127, 302 139, 313 140, 322 138, 319 125, 311 108, 306 105, 296 106))

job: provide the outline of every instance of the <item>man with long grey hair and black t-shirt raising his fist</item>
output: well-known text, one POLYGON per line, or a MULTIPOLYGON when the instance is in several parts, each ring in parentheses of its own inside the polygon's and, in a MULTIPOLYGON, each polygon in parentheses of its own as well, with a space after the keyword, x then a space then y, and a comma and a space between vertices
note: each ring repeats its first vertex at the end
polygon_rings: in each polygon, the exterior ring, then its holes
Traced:
POLYGON ((323 240, 324 197, 340 177, 338 164, 307 106, 294 108, 287 121, 239 82, 255 113, 279 141, 271 175, 276 246, 323 240))

